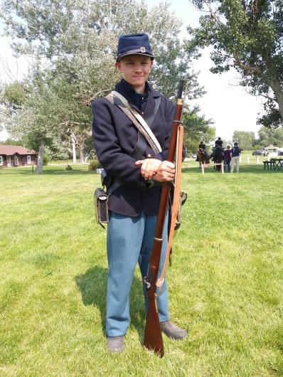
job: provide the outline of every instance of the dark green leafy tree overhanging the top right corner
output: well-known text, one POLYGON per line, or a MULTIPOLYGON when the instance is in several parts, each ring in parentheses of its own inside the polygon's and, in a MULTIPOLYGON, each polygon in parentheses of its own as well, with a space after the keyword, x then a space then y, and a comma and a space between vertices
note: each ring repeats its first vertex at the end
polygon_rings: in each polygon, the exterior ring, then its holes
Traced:
POLYGON ((283 1, 192 0, 201 16, 199 28, 188 28, 193 40, 188 49, 213 46, 213 73, 231 67, 240 73, 240 85, 265 99, 259 124, 283 125, 283 1))

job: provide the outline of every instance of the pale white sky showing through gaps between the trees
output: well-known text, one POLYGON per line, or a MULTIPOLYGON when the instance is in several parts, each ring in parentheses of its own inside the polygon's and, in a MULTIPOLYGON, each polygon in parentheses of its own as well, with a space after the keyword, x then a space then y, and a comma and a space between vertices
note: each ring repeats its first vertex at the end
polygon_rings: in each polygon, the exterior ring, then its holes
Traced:
MULTIPOLYGON (((160 0, 145 0, 151 6, 158 5, 160 0)), ((198 18, 201 13, 197 11, 189 0, 168 1, 171 10, 183 21, 182 37, 188 36, 186 26, 198 26, 198 18)), ((0 22, 0 35, 2 26, 0 22)), ((7 80, 9 75, 21 79, 28 67, 26 58, 14 58, 9 42, 6 37, 0 36, 0 81, 7 80), (7 70, 9 66, 11 73, 7 70)), ((262 111, 262 104, 259 98, 245 92, 243 87, 237 85, 237 73, 230 70, 222 75, 210 73, 213 66, 210 60, 209 51, 205 49, 202 57, 196 60, 191 67, 198 73, 198 83, 203 85, 206 94, 198 101, 201 107, 200 115, 205 115, 206 119, 213 120, 216 129, 216 137, 221 137, 226 141, 233 141, 233 132, 237 131, 257 131, 260 126, 256 123, 257 115, 262 111)), ((0 140, 8 137, 6 132, 0 132, 0 140)))

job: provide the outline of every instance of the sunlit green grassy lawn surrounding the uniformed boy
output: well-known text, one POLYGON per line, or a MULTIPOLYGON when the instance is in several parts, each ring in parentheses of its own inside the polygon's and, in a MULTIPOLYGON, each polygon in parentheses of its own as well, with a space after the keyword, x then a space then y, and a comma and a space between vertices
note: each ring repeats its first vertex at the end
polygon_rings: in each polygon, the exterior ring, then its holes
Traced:
POLYGON ((183 166, 188 201, 169 268, 185 341, 142 348, 139 272, 123 354, 105 351, 105 230, 87 166, 2 169, 0 376, 283 376, 283 171, 183 166))

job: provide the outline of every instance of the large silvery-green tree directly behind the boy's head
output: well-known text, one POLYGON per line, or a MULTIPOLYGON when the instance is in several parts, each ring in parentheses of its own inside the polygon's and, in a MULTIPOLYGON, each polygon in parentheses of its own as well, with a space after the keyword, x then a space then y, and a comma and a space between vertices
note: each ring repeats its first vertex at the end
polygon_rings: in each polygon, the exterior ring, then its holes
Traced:
POLYGON ((180 22, 169 4, 151 10, 134 0, 4 0, 2 4, 1 16, 15 53, 41 61, 31 80, 33 90, 16 118, 25 125, 22 132, 36 127, 41 153, 47 140, 59 133, 85 161, 84 153, 91 152, 92 120, 86 105, 119 80, 114 58, 121 33, 149 33, 157 62, 151 77, 164 95, 176 95, 180 78, 190 81, 191 97, 203 93, 196 75, 190 73, 191 55, 179 41, 180 22))

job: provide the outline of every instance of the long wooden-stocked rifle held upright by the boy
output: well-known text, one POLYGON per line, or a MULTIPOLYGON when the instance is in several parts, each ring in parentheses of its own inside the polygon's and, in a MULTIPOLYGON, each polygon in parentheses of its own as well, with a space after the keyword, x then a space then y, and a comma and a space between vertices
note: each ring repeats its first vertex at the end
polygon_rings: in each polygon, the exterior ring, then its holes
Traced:
MULTIPOLYGON (((171 140, 167 156, 167 161, 170 162, 173 162, 175 159, 178 127, 181 124, 181 115, 183 110, 183 86, 184 80, 181 80, 178 88, 176 113, 175 118, 173 120, 171 140)), ((156 284, 158 280, 161 248, 163 243, 162 233, 164 228, 166 208, 167 203, 169 201, 170 190, 171 182, 164 182, 161 191, 159 213, 157 216, 156 228, 154 233, 154 245, 151 251, 151 259, 149 262, 149 273, 146 277, 144 277, 144 284, 146 285, 146 293, 149 300, 149 309, 146 314, 146 326, 144 329, 144 346, 146 347, 146 349, 151 349, 154 352, 156 352, 156 354, 159 354, 160 357, 164 356, 164 346, 159 324, 158 308, 156 304, 156 284)))

